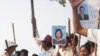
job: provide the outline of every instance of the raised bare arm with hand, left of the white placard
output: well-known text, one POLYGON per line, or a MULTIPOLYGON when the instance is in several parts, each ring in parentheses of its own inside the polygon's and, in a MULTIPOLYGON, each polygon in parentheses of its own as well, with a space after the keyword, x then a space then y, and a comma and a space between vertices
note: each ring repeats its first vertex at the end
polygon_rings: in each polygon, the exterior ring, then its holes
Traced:
POLYGON ((77 14, 77 7, 84 1, 84 0, 69 0, 72 6, 73 10, 73 24, 74 24, 74 30, 76 33, 84 35, 87 37, 87 29, 84 29, 80 21, 78 19, 78 14, 77 14))

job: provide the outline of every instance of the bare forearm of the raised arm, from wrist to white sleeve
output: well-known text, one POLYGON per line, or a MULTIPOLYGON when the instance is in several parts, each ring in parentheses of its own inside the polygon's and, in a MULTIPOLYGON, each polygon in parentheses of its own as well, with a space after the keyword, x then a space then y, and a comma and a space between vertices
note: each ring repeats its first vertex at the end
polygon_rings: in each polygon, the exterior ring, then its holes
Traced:
POLYGON ((81 24, 80 21, 78 19, 78 14, 77 14, 77 8, 73 8, 73 24, 74 24, 74 30, 75 32, 87 36, 87 29, 84 29, 81 24))

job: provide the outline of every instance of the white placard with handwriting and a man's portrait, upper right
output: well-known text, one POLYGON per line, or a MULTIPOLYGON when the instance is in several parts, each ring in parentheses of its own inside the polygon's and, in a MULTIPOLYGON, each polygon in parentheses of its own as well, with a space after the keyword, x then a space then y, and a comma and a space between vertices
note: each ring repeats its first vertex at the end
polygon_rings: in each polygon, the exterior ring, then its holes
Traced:
POLYGON ((85 0, 81 5, 79 5, 77 10, 78 10, 78 19, 80 20, 80 23, 84 28, 92 28, 92 29, 97 28, 98 11, 99 11, 98 8, 93 7, 88 0, 85 0))

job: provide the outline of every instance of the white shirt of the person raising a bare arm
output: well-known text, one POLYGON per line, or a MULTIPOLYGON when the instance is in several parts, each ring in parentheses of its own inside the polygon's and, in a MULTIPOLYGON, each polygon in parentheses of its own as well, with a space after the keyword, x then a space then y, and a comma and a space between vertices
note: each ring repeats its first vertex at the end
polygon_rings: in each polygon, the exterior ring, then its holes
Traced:
POLYGON ((89 29, 88 30, 88 40, 97 43, 97 56, 100 53, 100 29, 89 29))

